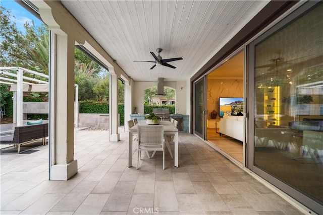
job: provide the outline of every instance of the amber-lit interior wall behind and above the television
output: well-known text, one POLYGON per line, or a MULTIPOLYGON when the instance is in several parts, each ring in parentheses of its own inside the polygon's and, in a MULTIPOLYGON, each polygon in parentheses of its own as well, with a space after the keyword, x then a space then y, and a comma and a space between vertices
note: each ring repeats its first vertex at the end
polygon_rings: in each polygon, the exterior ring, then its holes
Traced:
POLYGON ((211 112, 218 112, 220 119, 220 97, 243 98, 243 79, 212 79, 207 78, 207 119, 211 119, 211 112))

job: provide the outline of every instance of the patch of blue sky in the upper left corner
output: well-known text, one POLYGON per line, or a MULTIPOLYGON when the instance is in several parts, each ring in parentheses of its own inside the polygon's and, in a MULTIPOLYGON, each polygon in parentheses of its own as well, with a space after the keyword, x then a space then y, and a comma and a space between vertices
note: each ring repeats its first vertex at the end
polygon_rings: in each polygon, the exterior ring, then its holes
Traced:
POLYGON ((31 21, 34 20, 35 26, 40 26, 42 23, 42 21, 34 17, 31 13, 21 7, 14 0, 1 0, 1 6, 11 10, 11 15, 16 17, 16 19, 12 21, 17 24, 17 29, 23 33, 25 33, 25 22, 31 24, 31 21))

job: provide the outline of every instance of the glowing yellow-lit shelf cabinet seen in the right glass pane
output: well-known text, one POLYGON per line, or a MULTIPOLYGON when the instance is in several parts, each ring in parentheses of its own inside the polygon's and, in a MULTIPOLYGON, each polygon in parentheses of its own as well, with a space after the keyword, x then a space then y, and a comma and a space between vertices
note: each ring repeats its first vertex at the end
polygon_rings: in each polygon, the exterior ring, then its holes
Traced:
POLYGON ((267 125, 281 125, 281 87, 268 87, 264 90, 263 106, 267 125))

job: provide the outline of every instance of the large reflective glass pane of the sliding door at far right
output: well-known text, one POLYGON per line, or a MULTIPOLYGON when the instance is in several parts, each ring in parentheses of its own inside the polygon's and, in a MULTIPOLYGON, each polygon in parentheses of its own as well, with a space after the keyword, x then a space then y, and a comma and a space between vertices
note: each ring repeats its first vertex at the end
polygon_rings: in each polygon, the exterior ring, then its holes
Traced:
POLYGON ((255 46, 254 165, 323 203, 323 5, 255 46))

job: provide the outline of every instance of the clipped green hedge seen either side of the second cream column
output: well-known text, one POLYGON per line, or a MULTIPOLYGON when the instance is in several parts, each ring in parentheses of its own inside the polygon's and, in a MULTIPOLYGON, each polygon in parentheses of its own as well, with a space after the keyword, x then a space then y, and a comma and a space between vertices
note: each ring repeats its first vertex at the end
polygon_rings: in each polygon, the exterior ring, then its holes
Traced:
MULTIPOLYGON (((120 114, 120 125, 124 125, 125 105, 118 105, 118 113, 120 114)), ((106 103, 83 103, 80 102, 79 113, 109 113, 109 104, 106 103)))

